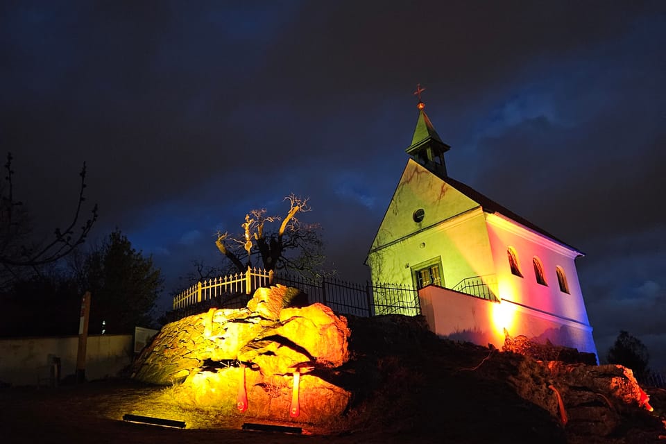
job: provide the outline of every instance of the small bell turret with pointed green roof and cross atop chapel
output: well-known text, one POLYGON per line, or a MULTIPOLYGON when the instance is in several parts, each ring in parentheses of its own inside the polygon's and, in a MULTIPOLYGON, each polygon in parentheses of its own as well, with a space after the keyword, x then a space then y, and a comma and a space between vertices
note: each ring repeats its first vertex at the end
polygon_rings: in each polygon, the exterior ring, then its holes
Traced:
POLYGON ((416 129, 411 139, 411 145, 405 150, 416 162, 422 164, 434 173, 447 176, 446 165, 444 164, 444 153, 451 148, 437 134, 432 122, 425 114, 425 103, 421 101, 421 92, 425 91, 419 84, 416 87, 414 95, 418 96, 418 120, 416 129))

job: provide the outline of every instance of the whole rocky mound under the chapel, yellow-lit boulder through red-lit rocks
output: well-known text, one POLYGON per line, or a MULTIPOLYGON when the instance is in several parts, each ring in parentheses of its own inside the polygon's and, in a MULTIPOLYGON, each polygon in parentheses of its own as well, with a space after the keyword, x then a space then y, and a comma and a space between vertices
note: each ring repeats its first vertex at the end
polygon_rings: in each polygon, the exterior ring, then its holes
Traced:
POLYGON ((643 390, 628 368, 520 336, 504 351, 438 339, 420 316, 286 307, 291 291, 165 326, 135 377, 176 382, 170 399, 217 418, 315 424, 341 442, 665 442, 666 392, 643 390))

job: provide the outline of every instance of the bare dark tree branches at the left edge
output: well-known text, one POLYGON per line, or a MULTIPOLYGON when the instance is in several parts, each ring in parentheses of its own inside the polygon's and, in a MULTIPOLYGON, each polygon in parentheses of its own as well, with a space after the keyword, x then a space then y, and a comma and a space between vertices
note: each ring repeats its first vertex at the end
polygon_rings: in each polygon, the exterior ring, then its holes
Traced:
POLYGON ((31 267, 37 271, 38 266, 56 262, 71 253, 76 246, 83 244, 97 220, 97 205, 94 205, 90 218, 77 229, 76 225, 79 223, 85 202, 86 170, 83 162, 83 168, 79 173, 81 183, 78 204, 69 225, 65 230, 56 228, 50 239, 35 243, 23 203, 14 199, 12 160, 12 154, 8 153, 5 164, 7 176, 0 189, 0 265, 10 276, 17 277, 17 269, 31 267))

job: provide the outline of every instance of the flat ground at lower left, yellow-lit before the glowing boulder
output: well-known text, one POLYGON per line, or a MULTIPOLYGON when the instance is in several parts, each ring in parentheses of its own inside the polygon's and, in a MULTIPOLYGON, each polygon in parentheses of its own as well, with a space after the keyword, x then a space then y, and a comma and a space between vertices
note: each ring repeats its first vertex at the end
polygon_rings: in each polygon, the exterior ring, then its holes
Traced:
MULTIPOLYGON (((1 388, 3 443, 296 443, 330 442, 311 436, 241 429, 243 418, 225 420, 164 402, 162 387, 127 380, 57 388, 1 388), (185 421, 185 429, 123 421, 126 413, 185 421)), ((247 419, 247 418, 246 418, 247 419)), ((250 421, 251 422, 251 421, 250 421)), ((336 441, 337 442, 337 441, 336 441)), ((353 441, 352 441, 353 442, 353 441)))

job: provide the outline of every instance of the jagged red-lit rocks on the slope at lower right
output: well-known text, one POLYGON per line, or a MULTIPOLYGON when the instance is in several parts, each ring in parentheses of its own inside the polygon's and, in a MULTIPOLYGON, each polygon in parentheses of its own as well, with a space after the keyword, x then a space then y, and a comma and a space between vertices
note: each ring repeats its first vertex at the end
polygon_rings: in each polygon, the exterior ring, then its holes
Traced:
POLYGON ((589 353, 536 344, 524 336, 507 336, 503 350, 528 357, 512 360, 511 354, 505 355, 515 366, 509 382, 522 398, 558 418, 572 443, 610 440, 627 429, 635 429, 635 442, 647 442, 640 441, 640 429, 660 425, 660 419, 649 414, 650 397, 630 368, 589 365, 589 353), (554 357, 560 359, 551 360, 554 357))

